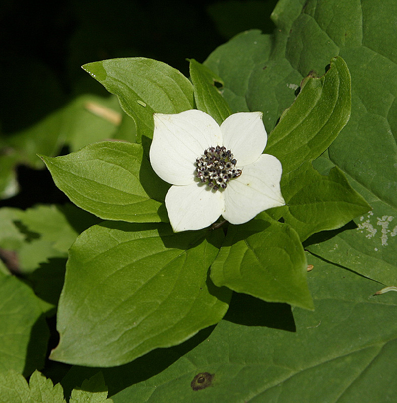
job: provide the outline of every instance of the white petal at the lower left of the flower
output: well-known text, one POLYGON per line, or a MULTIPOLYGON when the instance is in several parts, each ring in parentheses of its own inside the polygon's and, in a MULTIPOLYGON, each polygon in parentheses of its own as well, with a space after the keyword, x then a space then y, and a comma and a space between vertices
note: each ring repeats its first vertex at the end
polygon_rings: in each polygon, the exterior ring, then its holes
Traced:
POLYGON ((174 232, 199 230, 214 223, 224 208, 223 192, 205 184, 171 186, 165 196, 169 222, 174 232))

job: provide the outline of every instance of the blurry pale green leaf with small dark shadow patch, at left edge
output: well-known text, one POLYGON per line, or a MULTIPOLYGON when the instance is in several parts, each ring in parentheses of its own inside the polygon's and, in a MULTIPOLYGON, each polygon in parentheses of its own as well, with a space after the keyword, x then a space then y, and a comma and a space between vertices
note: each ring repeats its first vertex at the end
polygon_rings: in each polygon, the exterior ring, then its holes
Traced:
POLYGON ((2 257, 11 271, 25 275, 43 311, 58 303, 70 246, 99 221, 72 204, 38 205, 25 211, 0 209, 2 257))

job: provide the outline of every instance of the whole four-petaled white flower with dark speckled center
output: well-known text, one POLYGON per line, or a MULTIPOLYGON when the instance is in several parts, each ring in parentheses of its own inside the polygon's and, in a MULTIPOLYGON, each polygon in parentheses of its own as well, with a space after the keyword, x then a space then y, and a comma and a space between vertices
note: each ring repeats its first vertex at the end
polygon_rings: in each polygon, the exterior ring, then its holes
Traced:
POLYGON ((196 109, 155 113, 150 163, 173 185, 165 196, 173 230, 205 228, 220 215, 243 224, 285 205, 281 163, 262 154, 266 142, 262 112, 235 113, 220 127, 196 109))

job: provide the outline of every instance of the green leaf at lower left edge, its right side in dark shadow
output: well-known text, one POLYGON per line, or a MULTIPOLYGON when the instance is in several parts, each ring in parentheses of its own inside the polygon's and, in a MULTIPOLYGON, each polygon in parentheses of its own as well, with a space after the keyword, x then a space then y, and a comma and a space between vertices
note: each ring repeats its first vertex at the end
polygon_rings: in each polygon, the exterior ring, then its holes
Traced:
POLYGON ((42 304, 31 288, 14 276, 0 277, 0 370, 24 375, 44 365, 48 327, 42 304))

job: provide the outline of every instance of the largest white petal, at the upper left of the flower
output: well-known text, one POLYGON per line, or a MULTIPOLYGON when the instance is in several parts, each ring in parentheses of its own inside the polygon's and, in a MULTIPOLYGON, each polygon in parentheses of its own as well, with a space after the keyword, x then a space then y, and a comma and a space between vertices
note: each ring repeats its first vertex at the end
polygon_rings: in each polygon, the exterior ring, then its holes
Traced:
POLYGON ((155 113, 150 163, 166 182, 187 185, 194 181, 196 158, 207 148, 221 144, 219 125, 201 110, 155 113))

